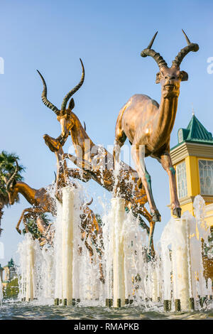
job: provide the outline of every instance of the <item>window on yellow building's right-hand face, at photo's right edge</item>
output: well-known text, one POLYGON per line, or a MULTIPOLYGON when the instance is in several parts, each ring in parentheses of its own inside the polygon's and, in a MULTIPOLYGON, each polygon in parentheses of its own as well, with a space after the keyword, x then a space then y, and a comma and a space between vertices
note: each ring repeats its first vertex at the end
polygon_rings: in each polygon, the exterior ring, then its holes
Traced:
POLYGON ((213 161, 199 160, 200 193, 213 195, 213 161))

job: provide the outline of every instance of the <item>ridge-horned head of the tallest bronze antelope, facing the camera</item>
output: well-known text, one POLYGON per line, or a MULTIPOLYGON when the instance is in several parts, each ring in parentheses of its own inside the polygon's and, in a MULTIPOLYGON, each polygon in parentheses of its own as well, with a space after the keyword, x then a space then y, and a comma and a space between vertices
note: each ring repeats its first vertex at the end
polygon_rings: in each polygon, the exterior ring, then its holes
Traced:
POLYGON ((189 38, 187 38, 185 32, 183 30, 182 32, 186 38, 187 46, 180 50, 178 55, 175 57, 175 60, 173 60, 173 65, 170 68, 168 68, 167 63, 165 62, 163 57, 161 57, 160 53, 156 53, 155 50, 151 49, 158 31, 153 36, 151 43, 149 43, 148 47, 141 52, 141 57, 147 57, 148 55, 150 55, 158 64, 160 71, 156 75, 155 82, 160 82, 163 97, 179 96, 180 82, 188 80, 187 72, 180 70, 180 64, 185 55, 187 55, 187 53, 190 53, 190 51, 196 52, 199 50, 199 45, 191 43, 189 38))

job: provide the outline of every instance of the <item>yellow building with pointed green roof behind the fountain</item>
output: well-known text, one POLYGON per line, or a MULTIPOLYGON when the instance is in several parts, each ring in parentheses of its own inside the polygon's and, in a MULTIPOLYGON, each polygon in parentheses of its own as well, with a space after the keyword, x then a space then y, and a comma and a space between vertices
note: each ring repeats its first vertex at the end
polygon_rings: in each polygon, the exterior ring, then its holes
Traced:
POLYGON ((193 215, 193 201, 200 194, 206 203, 207 225, 213 226, 213 137, 195 114, 186 129, 178 130, 178 144, 170 155, 182 213, 189 210, 193 215))

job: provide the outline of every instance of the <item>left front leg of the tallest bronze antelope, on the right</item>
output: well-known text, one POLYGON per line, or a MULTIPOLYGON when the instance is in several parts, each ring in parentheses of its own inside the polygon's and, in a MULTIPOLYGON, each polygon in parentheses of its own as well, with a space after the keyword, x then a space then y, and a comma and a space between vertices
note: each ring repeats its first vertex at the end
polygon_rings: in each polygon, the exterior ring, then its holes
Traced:
POLYGON ((140 149, 138 145, 131 146, 131 154, 132 154, 133 161, 136 164, 136 171, 138 172, 138 175, 140 176, 141 181, 146 190, 148 205, 151 210, 153 222, 160 222, 161 220, 160 213, 158 212, 158 209, 156 208, 155 201, 153 198, 153 192, 152 192, 152 187, 151 187, 151 176, 146 170, 145 161, 144 161, 143 156, 140 154, 140 149))

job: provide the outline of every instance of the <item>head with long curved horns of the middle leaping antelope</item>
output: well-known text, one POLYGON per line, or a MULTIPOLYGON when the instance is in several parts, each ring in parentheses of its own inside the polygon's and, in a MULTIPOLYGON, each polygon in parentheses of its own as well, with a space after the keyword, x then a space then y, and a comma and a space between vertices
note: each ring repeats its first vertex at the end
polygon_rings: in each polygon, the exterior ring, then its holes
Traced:
POLYGON ((80 62, 82 64, 82 77, 81 80, 79 82, 78 85, 76 85, 72 90, 70 90, 70 92, 67 93, 67 95, 65 96, 65 98, 63 99, 62 105, 60 110, 55 107, 54 104, 52 104, 50 101, 48 101, 47 99, 47 85, 45 83, 45 80, 43 78, 43 76, 40 74, 40 72, 38 71, 38 74, 41 77, 41 80, 43 81, 43 92, 41 94, 41 99, 43 101, 43 103, 50 108, 51 110, 53 110, 53 112, 55 112, 58 122, 60 122, 60 126, 61 126, 61 135, 58 137, 58 139, 60 139, 61 141, 65 141, 65 139, 67 139, 67 136, 70 133, 70 130, 72 129, 72 126, 74 125, 74 121, 72 119, 72 109, 75 107, 75 102, 74 99, 70 99, 70 97, 72 97, 72 95, 75 94, 75 92, 77 92, 77 90, 80 89, 80 87, 82 86, 83 82, 84 82, 84 65, 82 63, 82 60, 80 59, 80 62), (67 102, 70 99, 70 103, 68 105, 67 108, 67 102))

